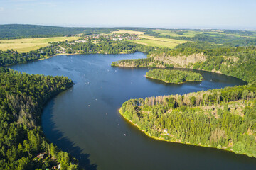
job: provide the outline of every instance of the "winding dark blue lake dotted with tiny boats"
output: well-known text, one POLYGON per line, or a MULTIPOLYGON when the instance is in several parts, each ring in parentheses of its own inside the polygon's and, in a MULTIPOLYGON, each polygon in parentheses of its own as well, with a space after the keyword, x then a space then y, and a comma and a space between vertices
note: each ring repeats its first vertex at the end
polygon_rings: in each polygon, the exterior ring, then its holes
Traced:
POLYGON ((63 55, 16 64, 28 74, 63 75, 75 85, 48 102, 42 126, 46 137, 70 152, 87 169, 256 169, 256 159, 220 149, 154 140, 128 123, 118 108, 129 98, 223 88, 245 84, 223 74, 199 72, 202 82, 164 84, 146 79, 149 68, 118 68, 110 64, 129 55, 63 55), (124 135, 125 134, 125 135, 124 135))

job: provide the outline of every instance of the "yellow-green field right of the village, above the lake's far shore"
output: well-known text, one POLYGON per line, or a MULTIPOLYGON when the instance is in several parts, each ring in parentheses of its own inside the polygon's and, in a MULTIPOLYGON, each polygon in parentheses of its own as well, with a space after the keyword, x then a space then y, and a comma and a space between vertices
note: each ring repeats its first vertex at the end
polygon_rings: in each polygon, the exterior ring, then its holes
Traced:
POLYGON ((174 40, 168 38, 155 38, 147 35, 139 35, 139 38, 143 38, 142 40, 134 40, 132 42, 136 42, 138 44, 149 45, 153 47, 168 47, 174 48, 179 44, 183 44, 187 41, 184 40, 174 40))

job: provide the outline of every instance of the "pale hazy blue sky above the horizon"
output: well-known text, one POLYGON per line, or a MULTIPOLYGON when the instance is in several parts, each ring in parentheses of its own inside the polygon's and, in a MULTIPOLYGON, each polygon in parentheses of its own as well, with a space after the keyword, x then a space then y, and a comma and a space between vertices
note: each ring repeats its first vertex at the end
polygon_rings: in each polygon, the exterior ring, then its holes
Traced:
POLYGON ((0 0, 0 24, 256 30, 256 0, 0 0))

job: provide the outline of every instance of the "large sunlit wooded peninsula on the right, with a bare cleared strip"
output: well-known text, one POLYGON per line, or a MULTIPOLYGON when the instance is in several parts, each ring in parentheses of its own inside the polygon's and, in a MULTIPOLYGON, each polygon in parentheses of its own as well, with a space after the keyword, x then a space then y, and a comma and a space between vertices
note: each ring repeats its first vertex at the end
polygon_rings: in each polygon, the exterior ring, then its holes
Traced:
POLYGON ((159 140, 256 157, 256 86, 130 99, 120 113, 159 140))

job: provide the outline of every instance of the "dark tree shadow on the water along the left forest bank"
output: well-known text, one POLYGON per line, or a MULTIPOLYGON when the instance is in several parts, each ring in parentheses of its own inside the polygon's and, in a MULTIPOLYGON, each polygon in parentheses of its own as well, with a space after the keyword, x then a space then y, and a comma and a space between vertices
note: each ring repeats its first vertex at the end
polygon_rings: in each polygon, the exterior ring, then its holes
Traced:
POLYGON ((90 163, 90 154, 82 153, 80 147, 75 146, 75 143, 70 141, 68 137, 65 137, 63 132, 55 129, 55 123, 53 122, 53 105, 54 98, 51 99, 43 109, 43 133, 46 138, 57 145, 63 152, 68 152, 73 157, 78 159, 79 165, 86 170, 96 170, 97 164, 90 163))

